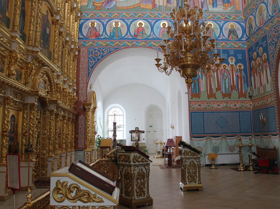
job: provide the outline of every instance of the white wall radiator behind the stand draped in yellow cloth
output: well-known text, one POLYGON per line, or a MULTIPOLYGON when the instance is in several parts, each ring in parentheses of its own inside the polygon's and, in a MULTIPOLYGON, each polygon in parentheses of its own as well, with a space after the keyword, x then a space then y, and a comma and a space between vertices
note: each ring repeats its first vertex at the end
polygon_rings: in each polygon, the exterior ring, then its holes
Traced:
MULTIPOLYGON (((239 163, 239 153, 217 153, 218 157, 214 160, 215 164, 239 163)), ((212 159, 209 160, 208 153, 205 154, 205 164, 212 164, 212 159)))

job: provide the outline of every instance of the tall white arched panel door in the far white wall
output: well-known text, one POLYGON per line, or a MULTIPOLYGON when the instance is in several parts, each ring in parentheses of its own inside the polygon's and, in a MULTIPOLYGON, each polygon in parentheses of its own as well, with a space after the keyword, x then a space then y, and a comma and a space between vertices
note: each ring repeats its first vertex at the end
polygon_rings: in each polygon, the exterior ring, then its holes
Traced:
MULTIPOLYGON (((156 153, 155 141, 156 139, 159 141, 162 140, 162 113, 159 108, 152 107, 148 111, 148 151, 150 154, 156 153)), ((158 144, 158 151, 160 151, 160 145, 158 144)))

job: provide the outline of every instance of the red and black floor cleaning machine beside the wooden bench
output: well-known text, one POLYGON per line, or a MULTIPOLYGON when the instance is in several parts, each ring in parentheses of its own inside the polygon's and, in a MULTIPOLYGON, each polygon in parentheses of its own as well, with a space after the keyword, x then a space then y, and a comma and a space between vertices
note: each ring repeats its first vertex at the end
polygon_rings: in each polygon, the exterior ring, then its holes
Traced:
MULTIPOLYGON (((257 158, 260 158, 256 153, 252 153, 257 158)), ((258 163, 255 165, 258 169, 256 173, 263 173, 263 174, 279 174, 279 169, 277 165, 277 160, 271 158, 262 158, 258 160, 258 163)))

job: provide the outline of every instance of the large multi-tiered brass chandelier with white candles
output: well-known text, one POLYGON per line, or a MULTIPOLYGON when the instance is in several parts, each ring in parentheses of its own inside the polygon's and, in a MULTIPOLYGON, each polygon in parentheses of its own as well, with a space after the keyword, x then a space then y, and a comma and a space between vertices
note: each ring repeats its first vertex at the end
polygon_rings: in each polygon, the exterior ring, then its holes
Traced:
POLYGON ((201 68, 207 75, 211 68, 217 71, 225 59, 218 57, 220 54, 217 53, 213 34, 210 34, 209 39, 207 17, 205 22, 202 9, 198 9, 197 5, 190 8, 187 0, 184 1, 184 7, 180 5, 177 9, 172 8, 170 15, 174 23, 171 23, 171 27, 168 18, 166 39, 160 45, 164 62, 159 63, 161 59, 158 58, 157 50, 155 65, 166 75, 170 75, 172 70, 178 71, 190 87, 197 70, 201 68), (202 23, 199 22, 200 18, 203 18, 202 23))

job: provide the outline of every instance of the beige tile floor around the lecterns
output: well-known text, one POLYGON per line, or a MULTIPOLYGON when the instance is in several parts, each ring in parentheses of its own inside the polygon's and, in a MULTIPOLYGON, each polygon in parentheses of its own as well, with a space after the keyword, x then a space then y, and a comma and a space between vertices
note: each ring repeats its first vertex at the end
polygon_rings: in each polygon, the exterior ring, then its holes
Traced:
MULTIPOLYGON (((280 208, 280 175, 255 174, 254 171, 237 172, 232 166, 218 166, 212 170, 201 168, 203 191, 183 192, 179 189, 180 169, 160 169, 162 158, 153 158, 150 172, 150 196, 153 205, 143 209, 269 209, 280 208)), ((31 191, 33 197, 46 189, 31 191)), ((26 201, 27 192, 16 193, 16 207, 26 201)), ((12 209, 13 198, 0 202, 0 208, 12 209)), ((127 209, 118 205, 117 209, 127 209)), ((139 208, 139 207, 138 207, 139 208)))

